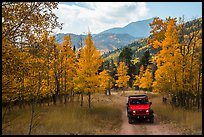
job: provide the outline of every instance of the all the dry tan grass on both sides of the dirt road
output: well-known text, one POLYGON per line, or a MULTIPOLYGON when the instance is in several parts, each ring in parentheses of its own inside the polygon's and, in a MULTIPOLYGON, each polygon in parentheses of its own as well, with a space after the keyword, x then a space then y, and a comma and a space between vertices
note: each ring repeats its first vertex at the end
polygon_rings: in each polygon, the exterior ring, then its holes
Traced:
MULTIPOLYGON (((116 93, 116 92, 115 92, 116 93)), ((32 134, 35 135, 112 135, 120 129, 121 114, 130 94, 143 94, 146 92, 125 91, 118 95, 106 96, 104 94, 92 95, 91 109, 88 109, 88 98, 84 98, 84 106, 79 102, 67 105, 38 107, 38 123, 32 134)), ((158 94, 146 93, 152 101, 155 114, 166 122, 172 122, 182 128, 183 134, 202 134, 202 112, 188 111, 173 108, 163 104, 158 94)), ((2 109, 2 114, 4 109, 2 109)), ((29 131, 31 109, 14 109, 2 121, 3 135, 26 135, 29 131), (11 121, 11 122, 8 122, 11 121)))

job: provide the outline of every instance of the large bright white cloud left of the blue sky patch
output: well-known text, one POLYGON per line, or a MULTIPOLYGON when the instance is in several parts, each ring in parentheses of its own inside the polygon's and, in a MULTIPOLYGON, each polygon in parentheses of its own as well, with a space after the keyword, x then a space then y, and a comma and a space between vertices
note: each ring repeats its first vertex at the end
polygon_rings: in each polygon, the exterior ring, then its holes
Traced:
POLYGON ((78 2, 76 5, 59 4, 54 13, 63 29, 57 33, 99 33, 112 27, 123 27, 130 22, 145 19, 148 8, 144 2, 78 2))

